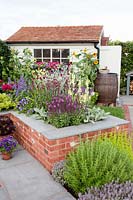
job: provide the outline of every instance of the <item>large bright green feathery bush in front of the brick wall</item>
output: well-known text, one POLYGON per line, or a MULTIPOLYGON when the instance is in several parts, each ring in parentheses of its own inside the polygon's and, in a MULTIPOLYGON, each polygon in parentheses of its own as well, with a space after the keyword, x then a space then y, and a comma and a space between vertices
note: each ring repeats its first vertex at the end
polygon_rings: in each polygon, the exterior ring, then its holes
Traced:
POLYGON ((113 180, 133 180, 133 161, 109 140, 81 142, 66 160, 64 178, 78 195, 113 180))

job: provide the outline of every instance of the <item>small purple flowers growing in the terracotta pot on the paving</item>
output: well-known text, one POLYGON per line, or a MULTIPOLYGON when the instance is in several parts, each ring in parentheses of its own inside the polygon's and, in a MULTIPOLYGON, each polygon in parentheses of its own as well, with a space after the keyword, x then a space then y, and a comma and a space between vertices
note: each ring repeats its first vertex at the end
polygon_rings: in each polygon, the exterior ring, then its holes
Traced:
POLYGON ((12 153, 17 149, 18 142, 13 136, 8 136, 0 141, 0 152, 12 153))

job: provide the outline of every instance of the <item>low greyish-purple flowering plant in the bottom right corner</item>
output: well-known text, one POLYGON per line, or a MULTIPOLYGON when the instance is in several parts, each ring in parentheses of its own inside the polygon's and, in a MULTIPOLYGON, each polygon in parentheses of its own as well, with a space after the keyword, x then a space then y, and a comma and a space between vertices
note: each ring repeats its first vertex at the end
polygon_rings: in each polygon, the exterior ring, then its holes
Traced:
POLYGON ((88 188, 84 195, 79 195, 78 200, 131 200, 133 199, 133 183, 111 182, 101 188, 88 188))

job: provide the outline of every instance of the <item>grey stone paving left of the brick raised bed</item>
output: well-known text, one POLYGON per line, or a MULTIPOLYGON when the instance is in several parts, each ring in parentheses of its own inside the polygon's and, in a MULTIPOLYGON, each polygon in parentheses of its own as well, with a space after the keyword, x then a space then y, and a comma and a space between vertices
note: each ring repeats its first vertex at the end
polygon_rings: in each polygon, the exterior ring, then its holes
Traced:
POLYGON ((0 159, 0 200, 74 200, 25 150, 11 160, 0 159))

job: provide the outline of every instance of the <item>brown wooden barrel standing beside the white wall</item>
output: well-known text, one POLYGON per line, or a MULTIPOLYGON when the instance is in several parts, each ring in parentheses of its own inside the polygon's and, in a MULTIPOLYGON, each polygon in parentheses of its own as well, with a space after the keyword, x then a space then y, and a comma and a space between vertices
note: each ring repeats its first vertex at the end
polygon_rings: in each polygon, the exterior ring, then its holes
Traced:
POLYGON ((118 77, 116 73, 98 73, 95 81, 95 92, 99 93, 98 103, 115 104, 118 93, 118 77))

